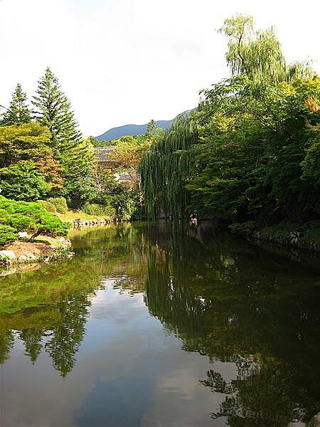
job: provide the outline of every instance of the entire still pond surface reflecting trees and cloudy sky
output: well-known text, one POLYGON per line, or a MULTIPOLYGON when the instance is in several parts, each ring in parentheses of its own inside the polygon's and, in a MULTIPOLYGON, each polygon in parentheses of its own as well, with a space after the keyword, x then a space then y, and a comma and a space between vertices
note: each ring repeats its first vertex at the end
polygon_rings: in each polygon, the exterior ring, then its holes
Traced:
POLYGON ((208 223, 70 232, 0 278, 1 427, 306 426, 320 411, 320 261, 208 223))

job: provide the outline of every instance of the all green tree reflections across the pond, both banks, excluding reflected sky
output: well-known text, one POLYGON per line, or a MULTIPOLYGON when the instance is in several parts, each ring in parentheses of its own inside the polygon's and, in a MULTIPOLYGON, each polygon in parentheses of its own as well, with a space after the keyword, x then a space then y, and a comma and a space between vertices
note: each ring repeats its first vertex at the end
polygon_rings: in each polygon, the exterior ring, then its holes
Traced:
POLYGON ((218 369, 201 379, 225 394, 214 417, 227 416, 236 427, 311 418, 320 400, 316 273, 228 236, 194 233, 172 236, 168 223, 93 229, 85 243, 75 241, 85 258, 9 278, 1 361, 13 344, 11 330, 21 331, 31 362, 46 351, 66 376, 85 333, 90 293, 100 278, 115 277, 119 289, 144 291, 151 314, 184 349, 236 364, 233 381, 218 369))

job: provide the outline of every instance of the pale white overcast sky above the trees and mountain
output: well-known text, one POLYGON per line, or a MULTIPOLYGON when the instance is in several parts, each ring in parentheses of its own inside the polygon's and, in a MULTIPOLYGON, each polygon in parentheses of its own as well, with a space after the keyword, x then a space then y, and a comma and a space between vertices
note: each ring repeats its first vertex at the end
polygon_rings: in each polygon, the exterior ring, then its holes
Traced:
POLYGON ((230 76, 217 29, 237 13, 320 74, 319 12, 317 0, 0 0, 0 105, 17 83, 30 100, 49 66, 84 137, 171 120, 230 76))

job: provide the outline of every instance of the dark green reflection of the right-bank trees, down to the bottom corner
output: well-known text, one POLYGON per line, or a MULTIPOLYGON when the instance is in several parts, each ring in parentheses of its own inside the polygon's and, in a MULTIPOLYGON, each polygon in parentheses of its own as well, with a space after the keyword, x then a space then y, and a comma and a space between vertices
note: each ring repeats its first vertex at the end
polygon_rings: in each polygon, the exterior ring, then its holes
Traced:
POLYGON ((213 370, 201 381, 227 394, 214 417, 237 427, 308 420, 320 409, 317 273, 243 249, 228 238, 157 241, 146 304, 184 349, 236 364, 230 384, 213 370))

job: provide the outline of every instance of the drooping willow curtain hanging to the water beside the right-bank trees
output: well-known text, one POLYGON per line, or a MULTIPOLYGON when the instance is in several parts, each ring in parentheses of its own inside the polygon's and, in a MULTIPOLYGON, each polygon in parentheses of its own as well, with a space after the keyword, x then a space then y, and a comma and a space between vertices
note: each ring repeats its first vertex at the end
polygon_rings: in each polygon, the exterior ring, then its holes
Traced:
POLYGON ((188 149, 197 142, 192 115, 181 115, 161 139, 154 142, 140 165, 144 206, 148 218, 163 213, 172 218, 186 216, 190 173, 188 149))

